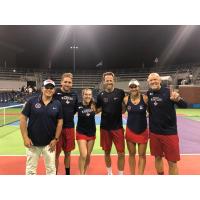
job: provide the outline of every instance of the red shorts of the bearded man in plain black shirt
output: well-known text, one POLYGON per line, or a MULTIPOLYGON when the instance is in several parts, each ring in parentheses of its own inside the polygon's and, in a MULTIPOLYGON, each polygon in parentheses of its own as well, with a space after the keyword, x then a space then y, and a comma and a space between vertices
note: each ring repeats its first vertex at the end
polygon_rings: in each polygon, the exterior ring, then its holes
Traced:
POLYGON ((115 148, 118 153, 125 152, 124 142, 124 129, 118 130, 105 130, 100 129, 100 145, 104 151, 110 151, 112 148, 112 142, 115 144, 115 148))

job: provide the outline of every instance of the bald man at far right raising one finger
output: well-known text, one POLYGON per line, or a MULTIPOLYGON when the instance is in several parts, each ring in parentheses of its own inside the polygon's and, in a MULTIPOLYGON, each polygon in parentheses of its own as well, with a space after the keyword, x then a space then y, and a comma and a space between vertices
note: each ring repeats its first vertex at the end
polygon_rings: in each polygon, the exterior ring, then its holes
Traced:
POLYGON ((161 86, 159 74, 151 73, 147 81, 150 87, 147 96, 151 155, 155 156, 157 174, 164 174, 164 156, 168 161, 169 174, 175 175, 178 174, 180 152, 174 105, 186 108, 187 103, 177 92, 161 86))

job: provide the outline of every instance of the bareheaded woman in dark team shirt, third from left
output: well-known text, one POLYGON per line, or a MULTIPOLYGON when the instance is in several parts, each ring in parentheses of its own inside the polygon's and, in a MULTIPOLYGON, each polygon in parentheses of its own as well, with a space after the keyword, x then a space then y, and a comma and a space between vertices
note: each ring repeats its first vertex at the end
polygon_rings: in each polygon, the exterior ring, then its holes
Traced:
POLYGON ((79 170, 84 175, 90 163, 90 155, 96 138, 95 104, 92 90, 82 90, 82 102, 78 103, 78 123, 76 127, 76 140, 79 147, 79 170))

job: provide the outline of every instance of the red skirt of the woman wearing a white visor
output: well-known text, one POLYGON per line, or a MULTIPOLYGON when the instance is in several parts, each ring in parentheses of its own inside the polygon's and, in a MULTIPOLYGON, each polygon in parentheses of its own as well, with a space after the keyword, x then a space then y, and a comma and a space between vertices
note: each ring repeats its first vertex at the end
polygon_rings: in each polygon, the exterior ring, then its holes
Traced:
POLYGON ((133 143, 138 144, 146 144, 148 142, 149 138, 149 132, 148 129, 143 131, 140 134, 134 133, 132 130, 130 130, 128 127, 126 127, 126 140, 133 143))

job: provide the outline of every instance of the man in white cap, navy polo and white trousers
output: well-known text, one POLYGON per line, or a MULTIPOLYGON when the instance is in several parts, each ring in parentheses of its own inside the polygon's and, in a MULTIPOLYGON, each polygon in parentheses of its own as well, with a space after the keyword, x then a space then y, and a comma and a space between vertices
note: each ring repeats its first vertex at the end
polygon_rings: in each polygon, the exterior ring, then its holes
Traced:
POLYGON ((35 175, 38 159, 45 159, 46 174, 55 175, 55 148, 63 124, 62 106, 53 99, 55 83, 43 82, 42 94, 31 98, 20 115, 20 129, 27 147, 26 174, 35 175), (28 126, 27 126, 28 120, 28 126))

